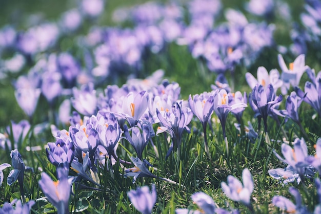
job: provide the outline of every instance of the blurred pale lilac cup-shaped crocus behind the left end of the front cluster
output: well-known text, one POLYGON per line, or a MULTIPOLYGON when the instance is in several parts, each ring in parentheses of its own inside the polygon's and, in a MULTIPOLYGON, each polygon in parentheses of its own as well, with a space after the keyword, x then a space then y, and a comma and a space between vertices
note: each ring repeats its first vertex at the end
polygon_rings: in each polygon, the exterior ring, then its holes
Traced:
POLYGON ((93 83, 82 85, 81 90, 73 88, 73 107, 81 114, 91 116, 97 109, 97 97, 93 83))

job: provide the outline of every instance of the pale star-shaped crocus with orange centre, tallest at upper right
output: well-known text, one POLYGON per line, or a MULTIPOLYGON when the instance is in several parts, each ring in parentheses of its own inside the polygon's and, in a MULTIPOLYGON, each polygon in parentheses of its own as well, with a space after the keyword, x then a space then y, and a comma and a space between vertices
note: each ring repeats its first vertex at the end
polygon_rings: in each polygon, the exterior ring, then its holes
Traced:
POLYGON ((287 67, 282 55, 277 56, 279 66, 282 70, 281 79, 283 80, 283 86, 281 88, 282 94, 286 94, 292 87, 298 87, 300 79, 303 73, 309 68, 305 65, 305 55, 301 54, 290 63, 289 68, 287 67))

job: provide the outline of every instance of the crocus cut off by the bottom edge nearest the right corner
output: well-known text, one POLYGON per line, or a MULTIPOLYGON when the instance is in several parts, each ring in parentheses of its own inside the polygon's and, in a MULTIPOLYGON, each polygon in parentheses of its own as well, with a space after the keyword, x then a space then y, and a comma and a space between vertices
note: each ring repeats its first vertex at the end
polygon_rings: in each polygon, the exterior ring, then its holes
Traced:
POLYGON ((300 192, 294 187, 290 187, 289 192, 295 198, 295 204, 283 196, 274 196, 272 198, 272 204, 288 213, 309 213, 307 207, 302 205, 300 192))

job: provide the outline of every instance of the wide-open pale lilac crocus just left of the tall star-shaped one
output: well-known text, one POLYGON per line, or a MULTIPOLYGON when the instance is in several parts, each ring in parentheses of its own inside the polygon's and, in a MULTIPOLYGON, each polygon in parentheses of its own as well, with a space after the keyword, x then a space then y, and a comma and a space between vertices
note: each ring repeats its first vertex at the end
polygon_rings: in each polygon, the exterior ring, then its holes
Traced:
POLYGON ((249 72, 245 74, 246 81, 251 89, 254 89, 255 85, 262 84, 266 89, 269 84, 273 85, 274 93, 277 89, 282 87, 283 81, 280 79, 280 75, 276 69, 272 69, 270 74, 263 66, 257 68, 257 79, 249 72))

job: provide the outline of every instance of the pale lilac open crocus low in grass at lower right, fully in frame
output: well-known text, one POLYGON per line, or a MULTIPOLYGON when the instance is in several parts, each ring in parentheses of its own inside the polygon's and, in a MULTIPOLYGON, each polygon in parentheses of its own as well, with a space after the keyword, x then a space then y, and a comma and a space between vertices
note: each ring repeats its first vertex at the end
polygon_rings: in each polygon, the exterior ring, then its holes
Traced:
POLYGON ((229 175, 227 182, 222 182, 220 185, 224 193, 233 201, 239 201, 244 203, 246 206, 250 206, 251 194, 254 189, 253 179, 249 169, 245 168, 242 173, 242 183, 234 176, 229 175))

